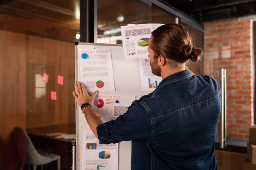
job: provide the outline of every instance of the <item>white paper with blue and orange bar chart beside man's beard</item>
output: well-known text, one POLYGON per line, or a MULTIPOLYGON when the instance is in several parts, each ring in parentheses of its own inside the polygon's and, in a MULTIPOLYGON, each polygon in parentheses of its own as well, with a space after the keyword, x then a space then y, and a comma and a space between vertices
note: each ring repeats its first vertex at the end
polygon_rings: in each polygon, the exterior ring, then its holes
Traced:
POLYGON ((141 91, 154 91, 162 81, 162 77, 152 74, 149 61, 149 59, 139 59, 141 91))

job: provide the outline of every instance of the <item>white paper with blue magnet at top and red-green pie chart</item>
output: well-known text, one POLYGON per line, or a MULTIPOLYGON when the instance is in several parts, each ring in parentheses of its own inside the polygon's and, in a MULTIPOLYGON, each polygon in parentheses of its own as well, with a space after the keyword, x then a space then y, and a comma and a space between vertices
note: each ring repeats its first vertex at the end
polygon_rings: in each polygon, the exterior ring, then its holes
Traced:
POLYGON ((79 50, 81 82, 88 92, 115 91, 111 49, 79 50), (87 54, 84 59, 82 55, 87 54))

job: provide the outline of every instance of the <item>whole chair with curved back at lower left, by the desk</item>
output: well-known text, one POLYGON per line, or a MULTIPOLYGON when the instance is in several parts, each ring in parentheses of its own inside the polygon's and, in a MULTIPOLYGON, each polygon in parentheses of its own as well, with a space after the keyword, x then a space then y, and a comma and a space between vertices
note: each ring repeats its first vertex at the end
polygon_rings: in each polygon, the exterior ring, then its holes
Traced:
POLYGON ((13 131, 19 155, 17 170, 23 170, 25 164, 29 165, 29 169, 30 166, 33 166, 33 170, 36 170, 37 165, 41 165, 43 168, 44 164, 49 164, 52 161, 57 161, 58 170, 61 169, 61 156, 53 153, 38 153, 24 129, 14 127, 13 131))

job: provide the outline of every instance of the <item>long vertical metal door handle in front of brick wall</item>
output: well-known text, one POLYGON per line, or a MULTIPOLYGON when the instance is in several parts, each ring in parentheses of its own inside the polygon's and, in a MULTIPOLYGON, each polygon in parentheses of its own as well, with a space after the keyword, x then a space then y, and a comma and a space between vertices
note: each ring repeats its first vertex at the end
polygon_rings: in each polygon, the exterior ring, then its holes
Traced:
POLYGON ((220 69, 221 82, 221 114, 220 114, 220 147, 227 146, 227 72, 226 69, 220 69))

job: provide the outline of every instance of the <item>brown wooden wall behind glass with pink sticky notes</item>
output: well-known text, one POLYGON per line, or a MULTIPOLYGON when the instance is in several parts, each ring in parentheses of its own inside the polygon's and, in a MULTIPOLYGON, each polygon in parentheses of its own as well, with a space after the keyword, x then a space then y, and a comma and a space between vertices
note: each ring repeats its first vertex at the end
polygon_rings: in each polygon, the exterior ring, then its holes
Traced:
POLYGON ((70 112, 75 102, 69 104, 74 101, 69 93, 75 79, 68 79, 74 67, 73 42, 0 30, 0 167, 16 168, 17 155, 10 151, 15 147, 13 127, 75 123, 75 113, 70 112), (47 94, 36 99, 35 73, 44 71, 50 76, 47 94), (58 75, 64 77, 64 85, 57 83, 58 75), (57 91, 57 101, 50 99, 50 91, 57 91))

